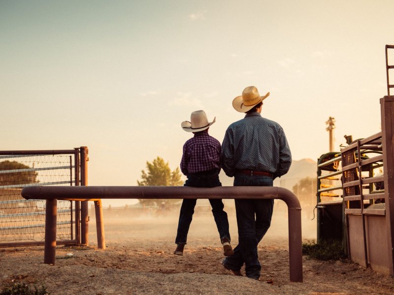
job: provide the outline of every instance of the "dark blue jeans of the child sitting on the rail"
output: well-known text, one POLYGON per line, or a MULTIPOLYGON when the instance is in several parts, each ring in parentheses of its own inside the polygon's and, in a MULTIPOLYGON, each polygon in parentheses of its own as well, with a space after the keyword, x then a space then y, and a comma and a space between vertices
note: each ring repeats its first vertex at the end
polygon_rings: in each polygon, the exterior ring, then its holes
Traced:
MULTIPOLYGON (((189 174, 185 186, 215 187, 222 186, 222 183, 219 181, 218 173, 215 170, 189 174)), ((176 244, 186 244, 196 202, 196 199, 184 199, 182 202, 178 221, 178 231, 175 238, 176 244)), ((224 237, 230 240, 229 220, 227 218, 227 213, 223 210, 224 205, 222 199, 209 199, 209 203, 211 203, 212 213, 216 222, 216 227, 218 228, 220 240, 224 237)))

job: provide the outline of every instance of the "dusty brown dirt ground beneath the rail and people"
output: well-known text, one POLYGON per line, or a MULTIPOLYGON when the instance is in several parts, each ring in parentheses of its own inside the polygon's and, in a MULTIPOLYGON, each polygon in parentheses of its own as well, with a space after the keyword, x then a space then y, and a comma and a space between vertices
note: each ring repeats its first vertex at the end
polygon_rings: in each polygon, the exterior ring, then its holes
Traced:
MULTIPOLYGON (((232 245, 235 214, 228 208, 232 245)), ((173 253, 177 214, 131 218, 104 211, 106 250, 97 249, 91 216, 90 246, 58 246, 56 264, 43 264, 43 247, 0 248, 0 290, 12 282, 42 284, 50 294, 394 294, 394 279, 350 261, 303 257, 303 283, 289 281, 287 216, 274 212, 259 244, 259 281, 226 270, 212 215, 196 213, 184 256, 173 253)), ((303 214, 303 237, 316 236, 316 221, 303 214)), ((244 272, 244 269, 242 269, 244 272)))

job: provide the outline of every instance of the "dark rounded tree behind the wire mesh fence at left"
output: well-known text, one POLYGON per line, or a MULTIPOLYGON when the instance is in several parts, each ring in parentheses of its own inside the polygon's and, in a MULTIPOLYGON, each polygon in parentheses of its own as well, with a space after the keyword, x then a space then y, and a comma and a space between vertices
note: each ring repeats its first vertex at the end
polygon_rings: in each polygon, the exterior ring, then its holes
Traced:
MULTIPOLYGON (((31 168, 25 164, 13 161, 0 162, 0 171, 21 170, 31 168)), ((16 185, 37 182, 37 172, 35 171, 15 171, 0 173, 0 185, 16 185)))

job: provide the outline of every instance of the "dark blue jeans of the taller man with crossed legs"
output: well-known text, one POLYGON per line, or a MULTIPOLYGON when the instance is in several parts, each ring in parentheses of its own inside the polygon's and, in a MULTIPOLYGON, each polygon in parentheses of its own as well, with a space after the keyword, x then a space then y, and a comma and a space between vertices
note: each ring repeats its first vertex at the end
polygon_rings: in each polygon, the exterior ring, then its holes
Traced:
MULTIPOLYGON (((272 177, 234 175, 234 186, 272 186, 272 177)), ((224 263, 232 270, 239 270, 245 263, 248 277, 259 278, 261 265, 257 254, 257 245, 271 225, 273 200, 235 199, 238 225, 238 245, 234 255, 227 257, 224 263)))

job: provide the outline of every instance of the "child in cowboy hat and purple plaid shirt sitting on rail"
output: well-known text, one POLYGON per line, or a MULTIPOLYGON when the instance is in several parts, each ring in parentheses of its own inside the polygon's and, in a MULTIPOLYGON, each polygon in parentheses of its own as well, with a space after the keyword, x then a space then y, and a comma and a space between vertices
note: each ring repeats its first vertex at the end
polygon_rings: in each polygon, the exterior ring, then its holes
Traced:
MULTIPOLYGON (((193 112, 189 121, 183 121, 181 126, 194 136, 183 146, 181 171, 187 176, 186 186, 215 187, 222 186, 219 180, 220 172, 220 142, 208 134, 209 127, 215 122, 208 122, 204 111, 193 112)), ((175 238, 177 244, 174 254, 183 255, 192 222, 196 199, 184 199, 179 213, 178 230, 175 238)), ((230 245, 229 220, 223 210, 221 199, 209 199, 212 214, 218 228, 225 256, 233 255, 230 245)))

